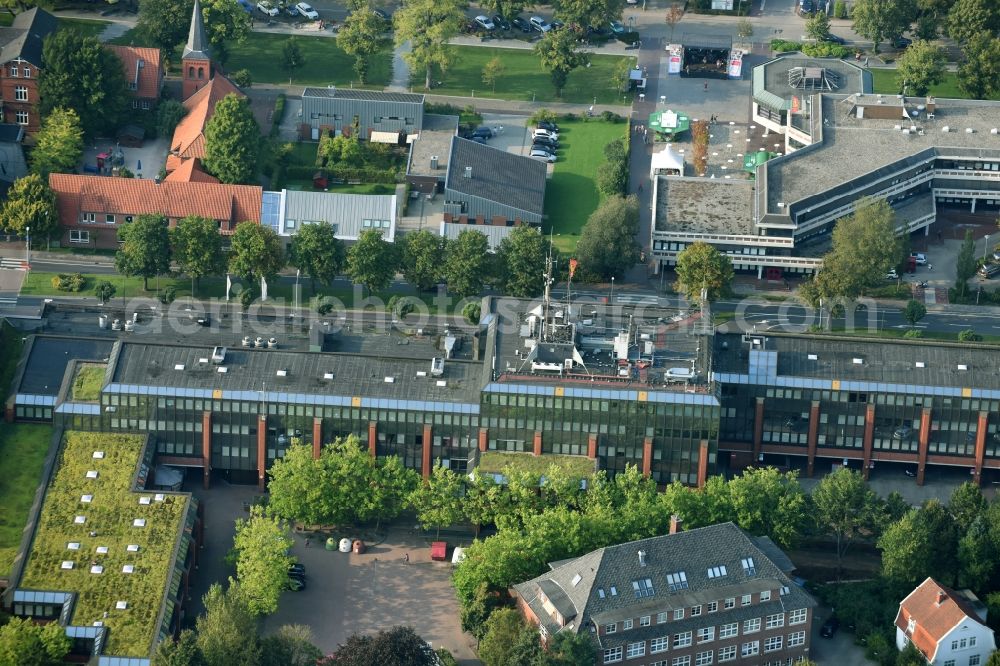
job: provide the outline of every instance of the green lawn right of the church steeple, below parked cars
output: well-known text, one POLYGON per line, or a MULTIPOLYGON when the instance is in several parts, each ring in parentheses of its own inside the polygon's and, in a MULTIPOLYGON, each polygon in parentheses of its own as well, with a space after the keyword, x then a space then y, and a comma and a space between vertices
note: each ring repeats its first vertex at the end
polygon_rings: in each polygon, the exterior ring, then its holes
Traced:
MULTIPOLYGON (((281 49, 288 35, 255 32, 244 44, 233 45, 226 71, 250 70, 254 83, 288 83, 281 67, 281 49)), ((350 85, 354 78, 354 57, 337 47, 331 37, 296 36, 305 66, 295 72, 296 85, 350 85)), ((372 58, 366 87, 383 88, 392 79, 392 52, 386 48, 372 58)))

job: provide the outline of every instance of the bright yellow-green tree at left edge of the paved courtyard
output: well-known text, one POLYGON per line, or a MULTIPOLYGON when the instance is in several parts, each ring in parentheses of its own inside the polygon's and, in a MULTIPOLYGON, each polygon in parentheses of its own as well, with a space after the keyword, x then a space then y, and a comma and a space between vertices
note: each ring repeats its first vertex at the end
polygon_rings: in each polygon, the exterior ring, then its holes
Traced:
POLYGON ((288 568, 295 562, 287 554, 292 543, 288 527, 260 506, 250 508, 249 518, 236 520, 236 580, 247 609, 254 615, 278 610, 278 598, 288 587, 288 568))

